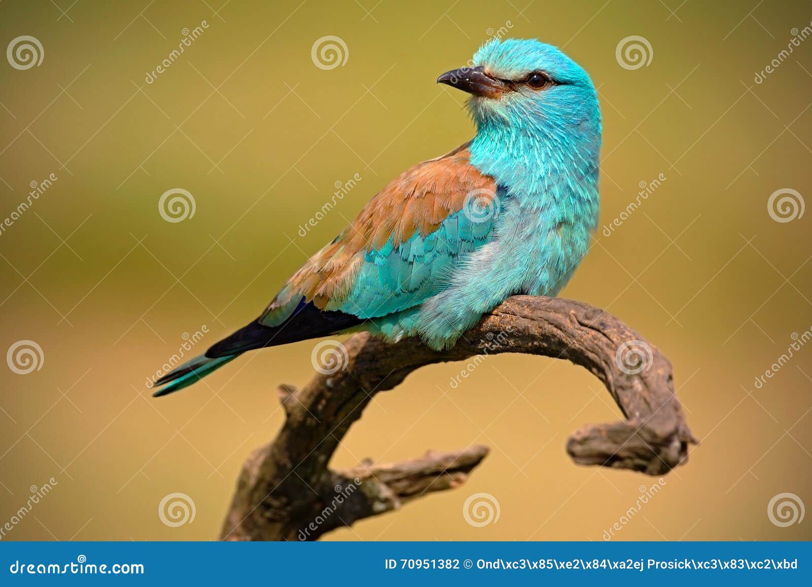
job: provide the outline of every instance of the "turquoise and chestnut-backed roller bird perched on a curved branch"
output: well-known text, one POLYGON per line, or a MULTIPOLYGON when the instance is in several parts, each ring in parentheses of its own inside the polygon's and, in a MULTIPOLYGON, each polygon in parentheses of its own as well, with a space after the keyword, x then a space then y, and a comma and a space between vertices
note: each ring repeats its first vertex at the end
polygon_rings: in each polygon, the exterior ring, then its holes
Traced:
POLYGON ((555 296, 598 224, 590 77, 536 40, 494 40, 438 83, 469 93, 472 140, 375 195, 256 320, 158 379, 197 382, 244 352, 368 330, 448 348, 514 294, 555 296))

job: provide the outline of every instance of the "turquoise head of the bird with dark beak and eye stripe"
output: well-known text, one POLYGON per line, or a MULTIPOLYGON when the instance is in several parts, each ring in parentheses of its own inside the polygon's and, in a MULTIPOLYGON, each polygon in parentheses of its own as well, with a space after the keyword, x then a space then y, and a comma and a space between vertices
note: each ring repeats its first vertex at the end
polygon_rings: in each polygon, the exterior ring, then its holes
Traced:
POLYGON ((560 50, 535 39, 489 41, 474 54, 471 67, 447 71, 437 81, 471 94, 469 110, 480 128, 507 125, 549 136, 577 127, 600 134, 590 76, 560 50))

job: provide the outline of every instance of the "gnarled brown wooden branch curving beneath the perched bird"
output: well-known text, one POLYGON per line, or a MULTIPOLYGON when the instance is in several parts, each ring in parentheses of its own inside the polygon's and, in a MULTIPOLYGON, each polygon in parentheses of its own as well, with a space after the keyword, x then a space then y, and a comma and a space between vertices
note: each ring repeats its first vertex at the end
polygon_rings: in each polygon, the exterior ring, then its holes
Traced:
POLYGON ((335 352, 331 368, 320 369, 324 373, 304 387, 280 388, 287 418, 274 442, 258 448, 243 465, 223 540, 315 540, 463 483, 487 455, 486 447, 430 451, 397 464, 327 468, 341 438, 376 393, 433 363, 521 352, 589 369, 625 420, 586 425, 572 434, 567 451, 577 464, 659 476, 684 464, 689 444, 697 442, 674 395, 671 363, 617 318, 577 301, 513 296, 445 352, 414 338, 388 344, 366 333, 335 352))

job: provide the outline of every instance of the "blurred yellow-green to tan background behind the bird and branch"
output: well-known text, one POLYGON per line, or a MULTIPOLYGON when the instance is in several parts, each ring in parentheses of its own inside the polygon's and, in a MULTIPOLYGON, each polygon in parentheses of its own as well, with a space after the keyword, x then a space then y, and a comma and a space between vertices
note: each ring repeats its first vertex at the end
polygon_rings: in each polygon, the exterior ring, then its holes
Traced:
MULTIPOLYGON (((243 326, 389 179, 468 140, 464 96, 434 80, 493 36, 558 45, 592 76, 601 228, 563 295, 659 346, 702 440, 613 539, 809 539, 809 520, 781 527, 767 507, 812 505, 812 345, 754 382, 812 326, 812 213, 776 222, 767 204, 784 188, 810 198, 812 41, 792 42, 810 21, 806 0, 2 2, 2 46, 36 37, 43 58, 0 62, 0 223, 56 178, 0 232, 0 351, 42 351, 32 373, 0 369, 0 526, 56 481, 2 539, 217 537, 240 465, 282 422, 275 388, 309 378, 313 342, 163 399, 146 378, 184 333, 206 326, 201 350, 243 326), (346 45, 332 69, 311 56, 328 35, 346 45), (618 58, 630 36, 650 63, 618 58), (192 217, 159 214, 171 188, 192 194, 192 217), (191 523, 162 523, 173 492, 191 523)), ((463 367, 378 396, 333 464, 490 456, 459 489, 327 539, 600 541, 658 482, 569 460, 568 434, 618 415, 590 373, 493 356, 452 388, 463 367), (498 501, 496 523, 465 521, 476 492, 498 501)))

